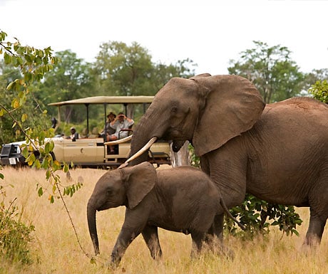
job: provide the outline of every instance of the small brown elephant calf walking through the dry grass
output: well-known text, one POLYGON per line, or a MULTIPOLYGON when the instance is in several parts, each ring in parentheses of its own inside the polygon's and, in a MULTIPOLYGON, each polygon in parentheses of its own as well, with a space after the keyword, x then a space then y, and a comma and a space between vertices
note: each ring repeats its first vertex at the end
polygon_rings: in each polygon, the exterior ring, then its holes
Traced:
POLYGON ((224 213, 219 190, 200 169, 177 167, 156 172, 152 164, 144 162, 106 172, 98 179, 87 206, 88 228, 96 255, 99 253, 96 211, 117 206, 126 206, 126 211, 111 254, 113 267, 140 233, 150 255, 160 257, 158 227, 190 233, 193 256, 201 251, 204 241, 212 248, 216 246, 215 238, 206 232, 215 215, 224 213))

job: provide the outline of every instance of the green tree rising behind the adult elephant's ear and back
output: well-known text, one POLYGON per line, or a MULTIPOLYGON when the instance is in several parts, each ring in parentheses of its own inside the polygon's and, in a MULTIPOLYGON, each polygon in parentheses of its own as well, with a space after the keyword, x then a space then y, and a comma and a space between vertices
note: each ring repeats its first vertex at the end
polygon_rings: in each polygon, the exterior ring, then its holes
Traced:
POLYGON ((268 46, 253 41, 255 48, 240 53, 240 60, 230 60, 230 74, 243 76, 260 91, 265 102, 277 102, 299 94, 304 89, 304 74, 291 60, 284 46, 268 46))

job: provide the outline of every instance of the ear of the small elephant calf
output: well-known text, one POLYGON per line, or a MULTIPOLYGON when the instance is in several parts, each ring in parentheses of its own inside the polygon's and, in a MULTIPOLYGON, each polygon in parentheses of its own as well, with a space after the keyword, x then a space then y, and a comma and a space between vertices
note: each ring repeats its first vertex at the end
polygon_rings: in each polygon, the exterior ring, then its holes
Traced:
POLYGON ((133 209, 153 189, 157 182, 157 173, 153 164, 143 162, 134 167, 121 169, 125 181, 128 207, 133 209))

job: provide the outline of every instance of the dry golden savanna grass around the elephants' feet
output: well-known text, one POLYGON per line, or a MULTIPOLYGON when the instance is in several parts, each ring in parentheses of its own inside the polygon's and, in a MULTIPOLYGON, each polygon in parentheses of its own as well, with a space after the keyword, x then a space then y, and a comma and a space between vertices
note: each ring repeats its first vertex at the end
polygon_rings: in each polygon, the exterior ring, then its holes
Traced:
MULTIPOLYGON (((83 180, 83 186, 73 197, 65 196, 65 201, 73 218, 81 246, 88 254, 93 254, 91 238, 86 222, 86 204, 97 179, 105 171, 99 169, 73 169, 71 178, 60 173, 63 184, 83 180)), ((163 259, 153 261, 143 238, 138 238, 129 246, 117 270, 108 270, 103 263, 108 261, 111 249, 121 229, 124 208, 110 209, 97 214, 98 236, 101 255, 96 264, 91 263, 78 246, 76 236, 66 210, 60 200, 54 204, 48 195, 39 197, 36 184, 47 186, 45 172, 34 169, 2 170, 6 188, 6 201, 15 201, 22 215, 21 220, 35 226, 34 241, 30 252, 34 263, 31 265, 11 264, 0 259, 0 273, 265 273, 302 274, 328 273, 328 227, 322 244, 317 250, 304 251, 302 242, 309 223, 308 209, 298 209, 302 216, 302 226, 298 226, 300 236, 285 236, 272 228, 267 238, 258 237, 253 241, 241 241, 225 236, 225 246, 235 253, 235 258, 227 259, 212 253, 203 253, 199 260, 190 260, 191 238, 183 233, 160 229, 160 243, 163 259)))

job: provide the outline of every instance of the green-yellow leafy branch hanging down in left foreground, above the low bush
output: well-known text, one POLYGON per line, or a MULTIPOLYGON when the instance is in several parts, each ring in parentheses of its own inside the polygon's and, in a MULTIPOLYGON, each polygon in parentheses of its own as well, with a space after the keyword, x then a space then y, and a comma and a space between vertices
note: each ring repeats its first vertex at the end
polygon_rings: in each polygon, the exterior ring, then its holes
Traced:
MULTIPOLYGON (((26 123, 29 121, 29 114, 22 113, 20 117, 16 117, 15 113, 21 109, 26 103, 28 95, 31 93, 30 87, 34 82, 40 82, 43 75, 53 69, 59 61, 53 56, 50 47, 43 50, 22 46, 18 39, 14 41, 6 41, 7 34, 0 31, 0 55, 4 56, 5 65, 13 65, 19 68, 22 77, 16 78, 7 85, 6 90, 15 94, 11 101, 11 106, 6 106, 0 102, 0 117, 8 115, 13 122, 12 127, 16 128, 16 132, 20 132, 25 136, 26 144, 22 144, 22 154, 26 162, 31 167, 46 170, 46 179, 51 185, 51 194, 49 200, 54 201, 57 188, 61 186, 60 177, 55 173, 62 169, 61 164, 52 157, 53 142, 50 137, 53 136, 53 129, 44 129, 42 127, 31 128, 26 123)), ((34 98, 35 99, 35 98, 34 98)), ((38 107, 40 105, 38 104, 38 107)), ((41 110, 41 119, 46 117, 46 110, 41 110)), ((68 165, 64 164, 63 172, 68 171, 68 165)), ((3 174, 0 175, 3 177, 3 174)), ((62 186, 66 194, 66 188, 78 189, 80 185, 62 186)), ((81 187, 81 186, 80 186, 81 187)), ((48 189, 48 188, 46 188, 48 189)), ((72 194, 75 191, 71 191, 72 194)), ((43 194, 42 186, 38 187, 38 194, 43 194)), ((58 196, 59 197, 59 196, 58 196)))

